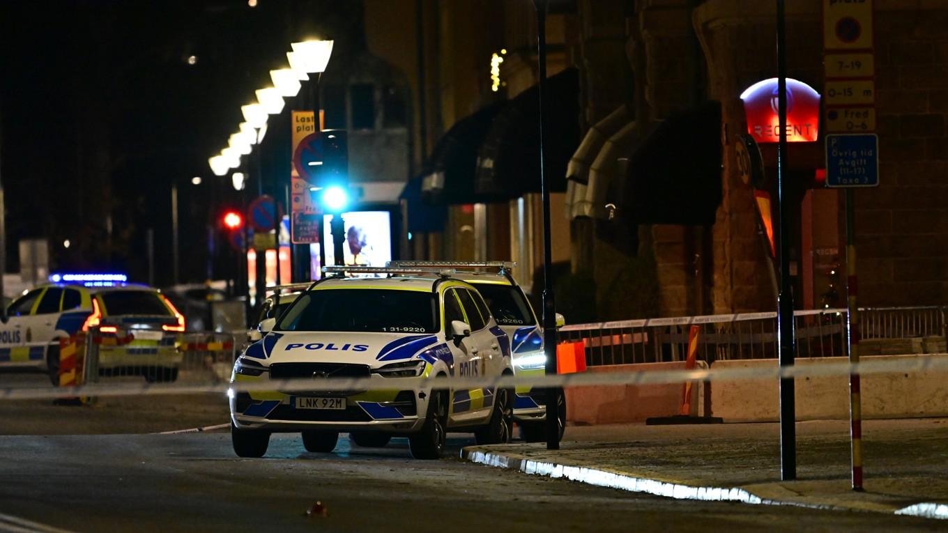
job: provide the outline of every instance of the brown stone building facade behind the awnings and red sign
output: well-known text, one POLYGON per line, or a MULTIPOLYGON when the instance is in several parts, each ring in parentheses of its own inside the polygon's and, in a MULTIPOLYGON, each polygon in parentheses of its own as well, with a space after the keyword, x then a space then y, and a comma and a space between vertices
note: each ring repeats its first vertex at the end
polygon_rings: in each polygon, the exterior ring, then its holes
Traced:
MULTIPOLYGON (((453 124, 536 83, 531 2, 365 2, 370 48, 410 73, 416 169, 453 124), (395 41, 422 49, 409 53, 406 46, 392 46, 395 41), (510 52, 500 68, 506 85, 494 93, 490 55, 501 49, 510 52)), ((821 0, 787 2, 788 76, 818 92, 821 5, 821 0)), ((860 303, 941 304, 948 300, 948 3, 875 0, 875 10, 882 184, 855 193, 860 303)), ((568 256, 574 274, 592 274, 597 318, 774 309, 773 269, 735 154, 735 138, 746 131, 740 94, 776 75, 774 3, 573 0, 556 2, 547 29, 550 74, 568 67, 579 72, 585 138, 569 172, 599 175, 608 185, 590 192, 590 185, 574 181, 553 213, 560 221, 556 256, 568 256), (711 142, 720 143, 722 160, 720 176, 712 176, 720 179, 713 220, 636 223, 636 213, 622 202, 623 194, 628 196, 623 189, 635 178, 627 172, 629 160, 661 124, 707 101, 720 102, 720 131, 708 132, 717 139, 711 142), (649 291, 654 294, 643 297, 649 291)), ((823 135, 792 143, 788 153, 797 307, 845 304, 843 194, 818 182, 823 135)), ((686 145, 665 148, 679 150, 682 158, 695 152, 686 145)), ((762 145, 762 155, 773 175, 775 147, 762 145)), ((522 238, 516 207, 516 202, 455 206, 446 230, 430 236, 437 246, 416 251, 448 259, 513 252, 522 238)))

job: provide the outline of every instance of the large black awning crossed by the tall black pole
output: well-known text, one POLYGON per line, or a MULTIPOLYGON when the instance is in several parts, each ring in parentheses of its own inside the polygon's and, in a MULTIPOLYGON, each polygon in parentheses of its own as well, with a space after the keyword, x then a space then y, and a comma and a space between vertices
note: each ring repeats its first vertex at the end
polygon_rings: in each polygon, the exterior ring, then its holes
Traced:
MULTIPOLYGON (((579 74, 567 68, 546 83, 546 182, 566 191, 566 167, 579 146, 579 74)), ((539 192, 539 86, 523 91, 494 119, 478 156, 474 191, 498 199, 539 192)))

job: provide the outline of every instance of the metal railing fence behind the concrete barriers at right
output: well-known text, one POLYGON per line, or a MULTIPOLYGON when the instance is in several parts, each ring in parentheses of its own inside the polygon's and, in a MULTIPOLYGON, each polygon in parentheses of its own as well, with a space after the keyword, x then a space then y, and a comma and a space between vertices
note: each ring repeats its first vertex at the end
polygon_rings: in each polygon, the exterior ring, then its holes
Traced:
MULTIPOLYGON (((860 309, 863 355, 945 352, 948 307, 867 307, 860 309)), ((848 353, 846 309, 793 313, 796 356, 842 357, 848 353)), ((684 360, 688 330, 701 328, 698 358, 776 358, 776 313, 642 319, 567 325, 559 340, 586 346, 589 366, 684 360)))

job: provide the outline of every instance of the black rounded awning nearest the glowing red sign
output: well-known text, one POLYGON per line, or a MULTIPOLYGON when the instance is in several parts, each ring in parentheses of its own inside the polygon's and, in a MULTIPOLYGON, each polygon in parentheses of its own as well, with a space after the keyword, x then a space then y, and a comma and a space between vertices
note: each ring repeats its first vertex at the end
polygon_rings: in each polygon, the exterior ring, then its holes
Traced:
POLYGON ((720 102, 661 122, 629 160, 625 209, 636 224, 711 225, 721 202, 720 102))

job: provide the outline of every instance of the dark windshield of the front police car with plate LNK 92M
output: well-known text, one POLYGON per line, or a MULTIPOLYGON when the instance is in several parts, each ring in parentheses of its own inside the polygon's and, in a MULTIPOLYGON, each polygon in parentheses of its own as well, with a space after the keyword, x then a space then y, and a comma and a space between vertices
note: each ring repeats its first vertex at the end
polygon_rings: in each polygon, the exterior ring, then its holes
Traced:
POLYGON ((327 288, 303 293, 275 329, 434 333, 438 331, 437 309, 430 292, 327 288))

